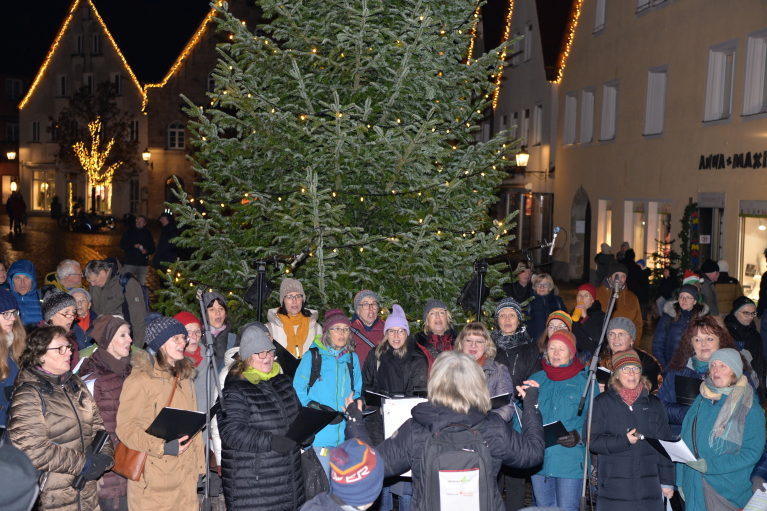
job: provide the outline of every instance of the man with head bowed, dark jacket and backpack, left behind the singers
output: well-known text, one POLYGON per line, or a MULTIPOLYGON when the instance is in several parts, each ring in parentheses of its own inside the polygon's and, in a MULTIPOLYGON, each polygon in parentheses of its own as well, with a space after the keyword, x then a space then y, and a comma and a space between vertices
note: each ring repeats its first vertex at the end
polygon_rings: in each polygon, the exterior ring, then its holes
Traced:
POLYGON ((149 307, 148 291, 135 276, 125 273, 117 259, 90 261, 83 270, 90 284, 92 307, 98 315, 120 316, 130 323, 133 345, 144 347, 146 325, 144 320, 149 307))

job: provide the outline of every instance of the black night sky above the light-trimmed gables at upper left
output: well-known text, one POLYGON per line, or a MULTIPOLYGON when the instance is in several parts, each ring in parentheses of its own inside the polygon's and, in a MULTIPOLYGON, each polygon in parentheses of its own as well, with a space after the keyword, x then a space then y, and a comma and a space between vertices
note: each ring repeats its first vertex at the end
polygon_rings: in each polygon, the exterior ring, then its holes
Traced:
MULTIPOLYGON (((157 82, 210 9, 208 0, 93 0, 141 82, 157 82)), ((32 78, 71 0, 0 0, 0 73, 32 78)))

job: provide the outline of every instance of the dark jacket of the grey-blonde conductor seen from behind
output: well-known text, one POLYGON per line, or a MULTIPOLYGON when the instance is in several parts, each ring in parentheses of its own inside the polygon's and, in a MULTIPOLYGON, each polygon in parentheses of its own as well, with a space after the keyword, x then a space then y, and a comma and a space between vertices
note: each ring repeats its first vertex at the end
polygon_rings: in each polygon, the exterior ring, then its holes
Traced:
MULTIPOLYGON (((420 495, 419 483, 423 476, 421 456, 424 444, 434 433, 450 424, 463 424, 482 434, 493 458, 493 474, 498 474, 502 464, 522 469, 534 467, 543 460, 543 423, 540 412, 533 406, 521 414, 523 433, 514 431, 497 413, 485 415, 475 408, 463 414, 426 402, 416 405, 411 415, 412 418, 400 426, 397 434, 384 440, 376 450, 386 462, 385 477, 399 475, 409 469, 413 471, 413 504, 416 509, 423 505, 424 499, 420 495)), ((360 426, 348 427, 347 436, 367 441, 364 437, 365 428, 360 426)), ((496 500, 501 503, 496 511, 503 511, 500 495, 496 500)))

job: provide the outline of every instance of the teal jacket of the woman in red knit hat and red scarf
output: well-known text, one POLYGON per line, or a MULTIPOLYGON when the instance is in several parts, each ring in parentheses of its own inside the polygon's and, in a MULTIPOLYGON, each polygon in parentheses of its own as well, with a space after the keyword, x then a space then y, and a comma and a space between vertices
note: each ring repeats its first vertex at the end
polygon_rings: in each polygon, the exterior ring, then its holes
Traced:
MULTIPOLYGON (((538 410, 543 417, 543 423, 562 421, 567 431, 578 430, 583 438, 583 422, 589 411, 588 401, 580 415, 578 415, 578 405, 586 386, 586 370, 563 381, 550 380, 545 371, 538 371, 530 379, 541 385, 538 391, 538 410)), ((599 386, 594 389, 594 395, 597 394, 599 394, 599 386)), ((583 459, 586 456, 584 441, 582 439, 580 444, 571 448, 561 445, 548 447, 543 457, 543 468, 537 475, 567 479, 582 478, 583 459)))

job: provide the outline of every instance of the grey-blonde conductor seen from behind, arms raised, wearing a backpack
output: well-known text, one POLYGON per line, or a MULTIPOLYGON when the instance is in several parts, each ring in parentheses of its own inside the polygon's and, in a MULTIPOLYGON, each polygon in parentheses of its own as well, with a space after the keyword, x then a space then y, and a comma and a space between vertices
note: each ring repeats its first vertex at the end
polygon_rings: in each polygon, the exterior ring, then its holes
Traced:
MULTIPOLYGON (((490 413, 485 374, 474 358, 458 351, 442 353, 431 369, 428 402, 416 405, 412 417, 376 447, 386 462, 384 476, 412 470, 417 511, 441 509, 444 493, 455 495, 455 508, 503 511, 496 481, 501 465, 528 468, 543 461, 537 386, 529 380, 517 387, 525 405, 519 433, 490 413), (468 473, 469 467, 478 473, 468 473), (450 477, 451 472, 460 477, 450 477)), ((360 407, 349 406, 346 413, 347 438, 369 443, 360 407)))

